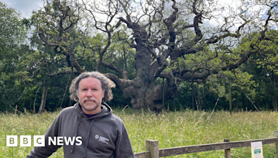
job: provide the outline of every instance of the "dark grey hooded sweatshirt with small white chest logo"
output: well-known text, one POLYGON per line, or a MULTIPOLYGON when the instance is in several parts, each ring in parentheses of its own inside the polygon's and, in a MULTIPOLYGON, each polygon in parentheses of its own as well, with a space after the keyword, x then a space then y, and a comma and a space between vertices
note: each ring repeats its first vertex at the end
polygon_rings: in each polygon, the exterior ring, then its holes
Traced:
MULTIPOLYGON (((61 146, 48 146, 49 137, 81 137, 82 144, 65 145, 65 158, 133 158, 133 151, 124 123, 102 103, 102 111, 90 119, 83 114, 79 103, 63 109, 45 132, 45 147, 35 147, 26 158, 49 157, 61 146)), ((80 139, 79 139, 80 140, 80 139)))

